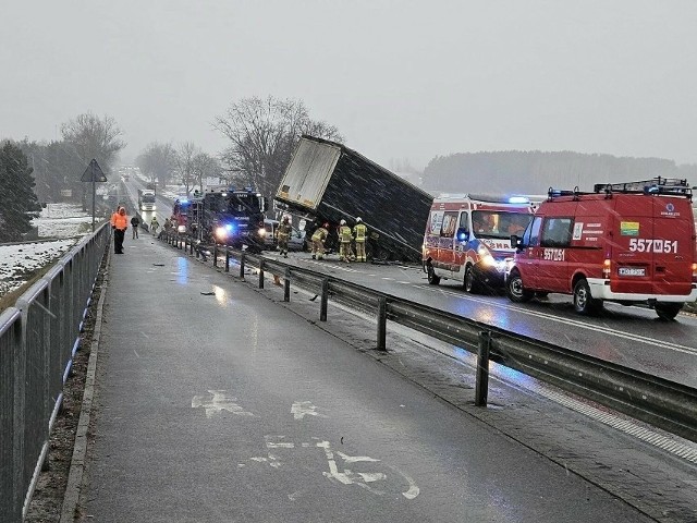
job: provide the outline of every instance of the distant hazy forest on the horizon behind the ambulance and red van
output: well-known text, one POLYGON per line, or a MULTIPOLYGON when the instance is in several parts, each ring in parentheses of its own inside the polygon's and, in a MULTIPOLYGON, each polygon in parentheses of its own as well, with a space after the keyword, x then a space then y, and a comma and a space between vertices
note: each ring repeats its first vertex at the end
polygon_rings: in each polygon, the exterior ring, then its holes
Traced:
POLYGON ((423 174, 431 193, 547 194, 550 187, 592 191, 596 183, 695 179, 697 165, 677 166, 661 158, 539 150, 458 153, 433 158, 423 174))

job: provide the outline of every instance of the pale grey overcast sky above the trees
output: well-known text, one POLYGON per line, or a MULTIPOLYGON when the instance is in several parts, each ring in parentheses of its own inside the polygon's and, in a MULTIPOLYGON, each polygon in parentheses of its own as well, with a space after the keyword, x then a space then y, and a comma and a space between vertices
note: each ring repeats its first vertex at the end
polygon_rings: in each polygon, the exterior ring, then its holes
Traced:
POLYGON ((301 99, 389 167, 574 150, 697 162, 695 0, 2 0, 0 138, 82 112, 192 141, 244 97, 301 99))

